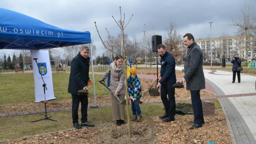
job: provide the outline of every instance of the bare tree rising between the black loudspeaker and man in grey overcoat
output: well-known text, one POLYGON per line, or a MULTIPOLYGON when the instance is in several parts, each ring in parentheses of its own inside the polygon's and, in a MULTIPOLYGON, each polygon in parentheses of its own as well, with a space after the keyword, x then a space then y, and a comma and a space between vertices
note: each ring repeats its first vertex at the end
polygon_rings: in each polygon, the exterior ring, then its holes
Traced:
POLYGON ((184 54, 184 49, 180 46, 180 41, 182 41, 182 35, 176 28, 176 23, 170 21, 170 24, 165 28, 166 36, 164 40, 164 44, 166 45, 166 49, 170 52, 174 58, 176 63, 182 60, 182 56, 184 54))

